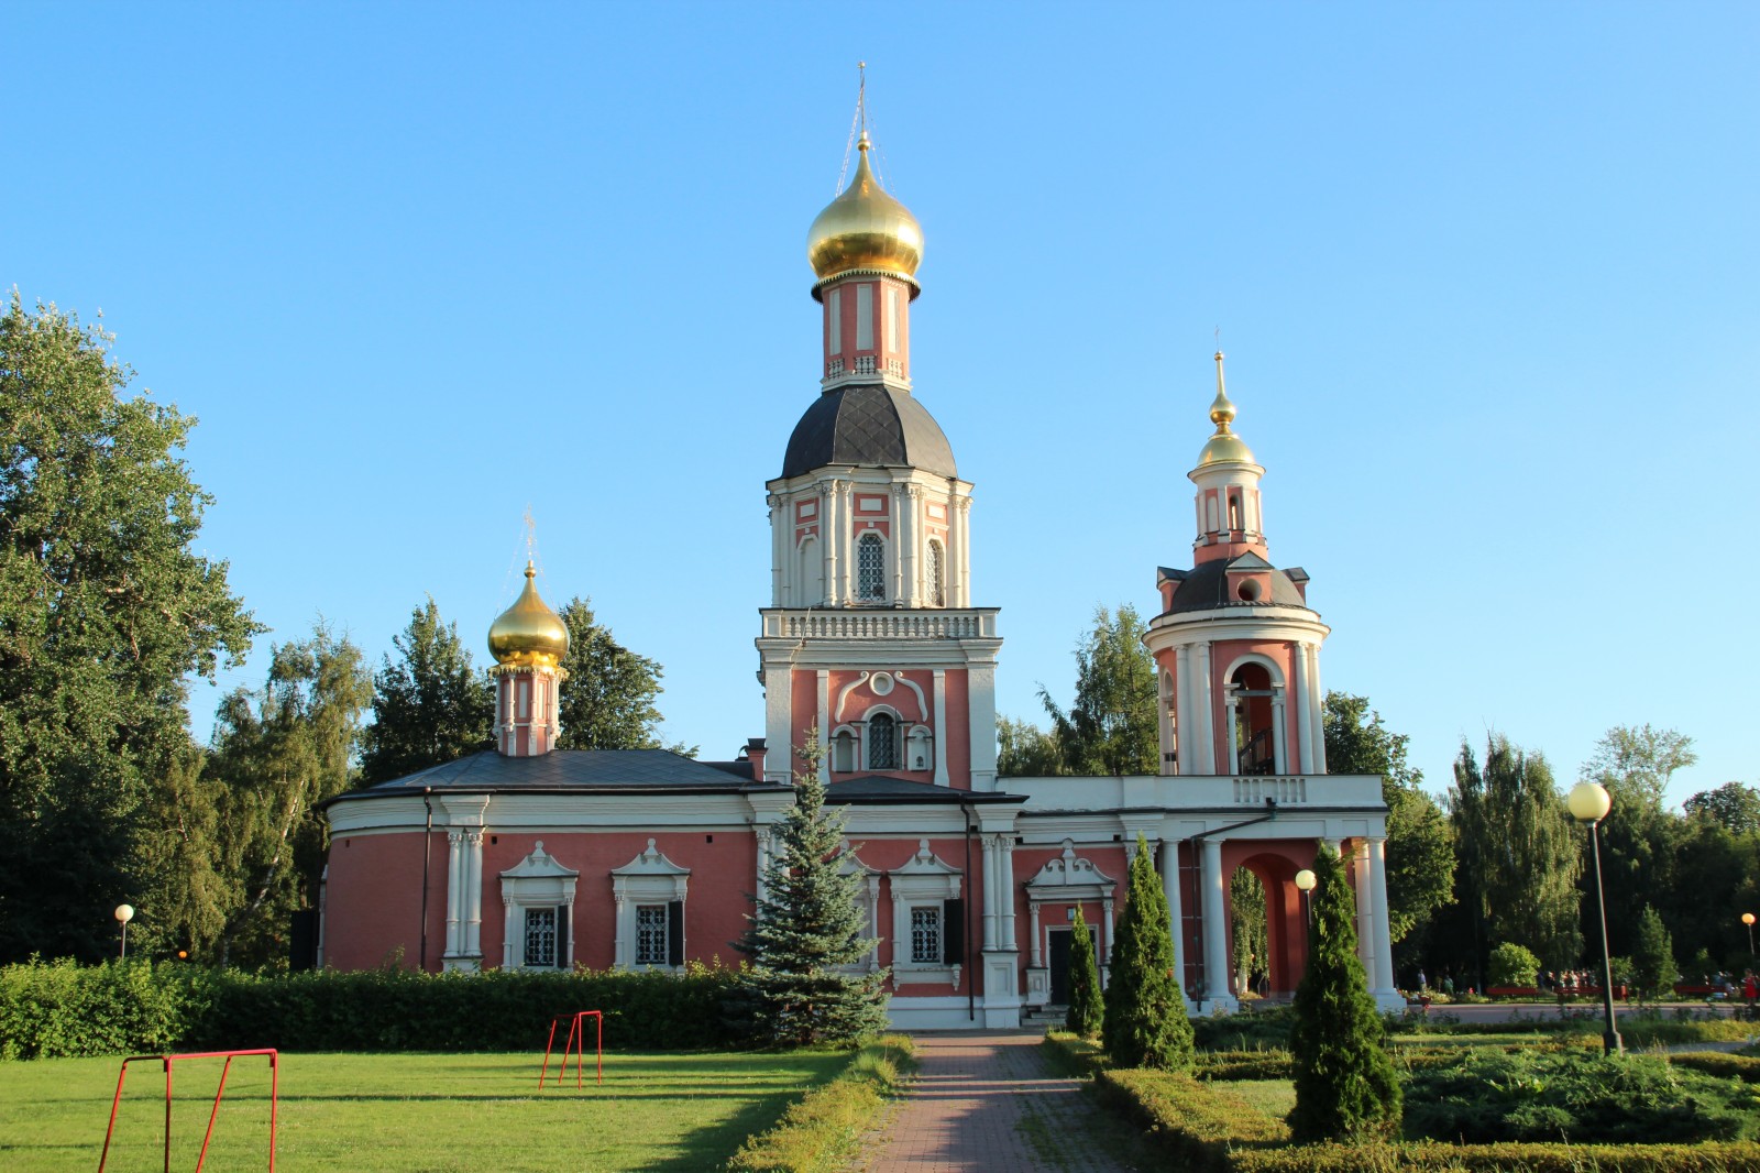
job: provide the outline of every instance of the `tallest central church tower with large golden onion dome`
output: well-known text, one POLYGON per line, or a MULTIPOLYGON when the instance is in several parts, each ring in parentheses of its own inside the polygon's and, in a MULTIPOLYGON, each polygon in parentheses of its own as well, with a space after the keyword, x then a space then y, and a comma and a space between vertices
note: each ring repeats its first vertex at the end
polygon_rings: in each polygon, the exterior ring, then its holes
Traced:
POLYGON ((817 729, 827 782, 882 773, 994 789, 996 609, 972 606, 972 484, 912 393, 922 229, 855 174, 808 232, 818 396, 767 483, 771 606, 757 639, 764 778, 817 729))

